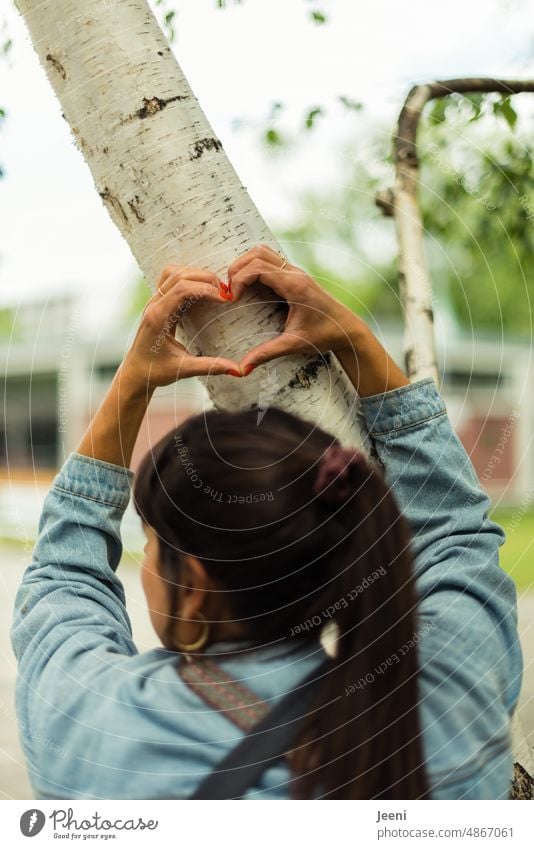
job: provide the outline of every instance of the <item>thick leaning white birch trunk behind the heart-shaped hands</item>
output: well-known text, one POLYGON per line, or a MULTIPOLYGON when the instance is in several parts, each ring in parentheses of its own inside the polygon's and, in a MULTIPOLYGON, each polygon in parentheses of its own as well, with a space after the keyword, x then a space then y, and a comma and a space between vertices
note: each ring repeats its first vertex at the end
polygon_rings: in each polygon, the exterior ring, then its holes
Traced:
MULTIPOLYGON (((18 0, 34 48, 97 191, 154 289, 169 262, 228 265, 277 247, 240 183, 145 0, 18 0)), ((239 303, 196 304, 180 338, 241 359, 281 331, 285 307, 260 284, 239 303)), ((206 381, 216 407, 277 405, 360 445, 357 396, 332 354, 291 356, 246 380, 206 381)))

